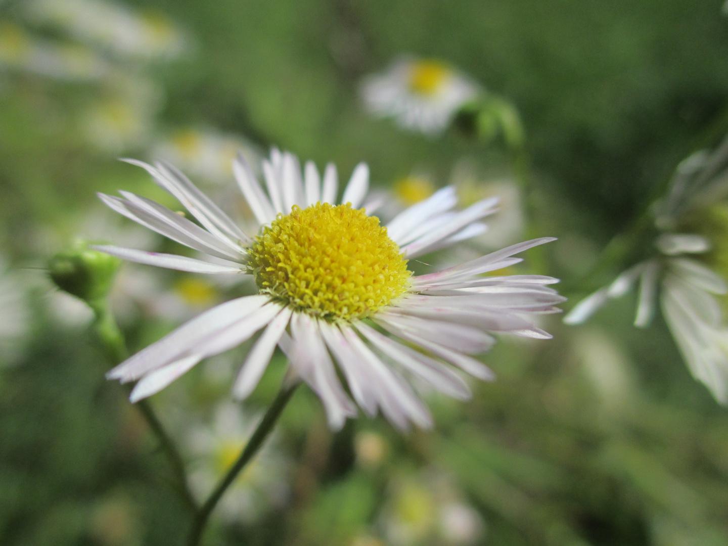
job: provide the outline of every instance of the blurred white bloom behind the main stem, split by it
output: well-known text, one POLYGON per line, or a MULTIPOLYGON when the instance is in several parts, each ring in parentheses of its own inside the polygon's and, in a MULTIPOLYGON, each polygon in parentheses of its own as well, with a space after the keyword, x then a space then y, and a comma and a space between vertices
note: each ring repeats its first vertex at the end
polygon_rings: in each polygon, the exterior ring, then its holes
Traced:
MULTIPOLYGON (((244 414, 239 405, 223 403, 212 424, 201 423, 189 431, 190 485, 199 499, 205 499, 234 464, 258 419, 244 414)), ((275 438, 266 442, 226 491, 218 513, 227 521, 250 523, 272 507, 288 502, 287 473, 290 463, 276 448, 275 438)))

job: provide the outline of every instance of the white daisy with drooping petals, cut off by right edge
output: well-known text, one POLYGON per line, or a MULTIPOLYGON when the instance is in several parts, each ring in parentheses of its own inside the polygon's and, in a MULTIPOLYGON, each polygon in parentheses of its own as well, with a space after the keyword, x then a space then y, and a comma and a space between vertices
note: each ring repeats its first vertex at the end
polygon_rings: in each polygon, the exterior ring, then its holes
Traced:
POLYGON ((659 300, 690 372, 721 404, 728 404, 728 325, 714 296, 727 293, 728 287, 708 266, 689 257, 708 252, 711 243, 678 229, 690 215, 728 194, 724 171, 727 157, 728 138, 715 151, 698 151, 684 159, 665 196, 650 209, 654 226, 662 232, 654 242, 657 256, 622 272, 611 285, 587 296, 564 317, 566 324, 581 324, 638 282, 635 326, 644 328, 652 322, 659 300))

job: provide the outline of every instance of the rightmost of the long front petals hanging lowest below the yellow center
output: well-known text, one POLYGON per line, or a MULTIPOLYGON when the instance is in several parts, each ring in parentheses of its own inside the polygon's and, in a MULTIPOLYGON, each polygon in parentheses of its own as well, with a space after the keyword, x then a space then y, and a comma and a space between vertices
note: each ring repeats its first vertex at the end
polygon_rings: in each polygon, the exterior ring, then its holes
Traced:
POLYGON ((407 382, 384 365, 357 336, 353 328, 342 328, 341 332, 349 342, 349 346, 364 360, 364 365, 368 365, 375 374, 376 384, 379 387, 379 405, 384 416, 400 429, 407 428, 407 420, 411 420, 421 428, 432 427, 430 411, 407 382), (405 416, 405 422, 402 422, 402 416, 405 416))

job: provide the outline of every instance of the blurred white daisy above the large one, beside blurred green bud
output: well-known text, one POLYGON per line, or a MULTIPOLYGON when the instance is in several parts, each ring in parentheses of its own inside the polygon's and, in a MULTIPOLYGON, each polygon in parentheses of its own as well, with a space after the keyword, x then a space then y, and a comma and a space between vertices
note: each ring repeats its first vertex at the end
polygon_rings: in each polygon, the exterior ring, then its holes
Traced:
POLYGON ((440 60, 402 58, 384 74, 368 76, 361 92, 372 114, 393 116, 405 129, 438 135, 482 90, 440 60))

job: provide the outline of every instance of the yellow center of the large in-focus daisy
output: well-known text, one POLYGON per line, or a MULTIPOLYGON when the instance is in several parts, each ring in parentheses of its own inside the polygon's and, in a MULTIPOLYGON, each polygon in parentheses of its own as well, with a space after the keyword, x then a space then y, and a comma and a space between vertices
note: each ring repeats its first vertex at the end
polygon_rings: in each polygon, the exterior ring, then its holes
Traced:
POLYGON ((349 203, 279 214, 256 237, 248 266, 261 292, 326 320, 367 317, 403 295, 411 275, 379 218, 349 203))

